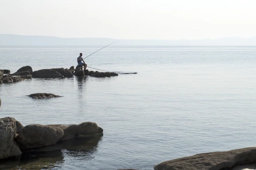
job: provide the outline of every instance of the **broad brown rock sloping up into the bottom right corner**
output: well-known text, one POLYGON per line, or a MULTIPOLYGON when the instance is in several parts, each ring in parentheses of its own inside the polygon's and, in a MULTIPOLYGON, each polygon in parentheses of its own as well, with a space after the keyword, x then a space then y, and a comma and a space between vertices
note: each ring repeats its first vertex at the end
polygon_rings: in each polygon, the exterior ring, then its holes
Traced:
POLYGON ((162 162, 155 170, 230 170, 232 167, 256 162, 256 147, 225 152, 201 153, 162 162))

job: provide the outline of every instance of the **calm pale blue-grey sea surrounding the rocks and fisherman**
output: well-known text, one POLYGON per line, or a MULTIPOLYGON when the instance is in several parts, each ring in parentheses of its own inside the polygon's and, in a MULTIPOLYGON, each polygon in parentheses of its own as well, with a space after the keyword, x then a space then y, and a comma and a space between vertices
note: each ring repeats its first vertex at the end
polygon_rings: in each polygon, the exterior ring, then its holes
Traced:
MULTIPOLYGON (((0 69, 70 68, 102 46, 0 46, 0 69)), ((119 74, 0 84, 0 117, 28 124, 95 122, 101 136, 24 153, 5 169, 153 170, 198 153, 254 147, 256 46, 108 46, 87 66, 119 74), (61 98, 32 99, 32 93, 61 98)), ((88 68, 96 71, 96 69, 88 68)), ((4 164, 4 163, 3 163, 4 164)))

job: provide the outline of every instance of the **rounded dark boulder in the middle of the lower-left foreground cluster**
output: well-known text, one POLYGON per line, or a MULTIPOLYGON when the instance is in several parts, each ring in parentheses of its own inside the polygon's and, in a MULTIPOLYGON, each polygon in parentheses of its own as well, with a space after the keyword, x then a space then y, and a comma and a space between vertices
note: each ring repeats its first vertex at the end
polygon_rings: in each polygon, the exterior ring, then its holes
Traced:
POLYGON ((55 144, 63 135, 64 131, 59 127, 30 124, 23 127, 15 140, 21 150, 26 150, 55 144))

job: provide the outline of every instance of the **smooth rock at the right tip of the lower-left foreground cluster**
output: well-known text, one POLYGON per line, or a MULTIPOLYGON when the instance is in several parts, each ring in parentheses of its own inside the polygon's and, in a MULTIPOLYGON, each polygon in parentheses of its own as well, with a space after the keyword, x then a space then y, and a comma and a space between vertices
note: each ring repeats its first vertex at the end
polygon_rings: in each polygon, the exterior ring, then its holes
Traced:
POLYGON ((60 141, 73 139, 79 135, 91 136, 103 133, 103 129, 101 127, 98 127, 96 123, 90 121, 83 122, 79 125, 50 124, 48 126, 58 127, 64 130, 64 136, 60 139, 60 141))

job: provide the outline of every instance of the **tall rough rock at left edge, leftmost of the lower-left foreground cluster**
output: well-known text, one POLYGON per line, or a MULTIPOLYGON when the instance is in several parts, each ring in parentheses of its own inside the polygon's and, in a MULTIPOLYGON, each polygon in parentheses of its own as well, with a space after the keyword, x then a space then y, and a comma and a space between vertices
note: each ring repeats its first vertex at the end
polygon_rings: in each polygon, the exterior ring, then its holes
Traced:
POLYGON ((0 118, 0 159, 21 154, 14 141, 16 137, 16 121, 14 118, 0 118))

